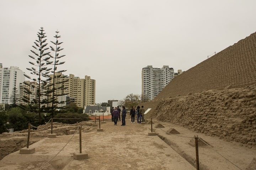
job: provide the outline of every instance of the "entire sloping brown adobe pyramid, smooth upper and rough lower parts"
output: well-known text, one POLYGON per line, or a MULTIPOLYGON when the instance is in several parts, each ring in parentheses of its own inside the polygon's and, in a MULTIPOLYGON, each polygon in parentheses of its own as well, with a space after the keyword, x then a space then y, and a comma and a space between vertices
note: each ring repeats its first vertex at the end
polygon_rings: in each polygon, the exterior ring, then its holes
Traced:
POLYGON ((146 115, 256 146, 256 33, 175 77, 140 103, 146 115))

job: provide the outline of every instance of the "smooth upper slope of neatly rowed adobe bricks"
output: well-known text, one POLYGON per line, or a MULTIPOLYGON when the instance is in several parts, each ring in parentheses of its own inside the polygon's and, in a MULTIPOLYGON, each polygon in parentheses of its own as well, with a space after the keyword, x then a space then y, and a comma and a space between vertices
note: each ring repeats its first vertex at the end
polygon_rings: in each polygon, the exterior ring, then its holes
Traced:
POLYGON ((154 100, 256 84, 256 33, 175 77, 154 100))

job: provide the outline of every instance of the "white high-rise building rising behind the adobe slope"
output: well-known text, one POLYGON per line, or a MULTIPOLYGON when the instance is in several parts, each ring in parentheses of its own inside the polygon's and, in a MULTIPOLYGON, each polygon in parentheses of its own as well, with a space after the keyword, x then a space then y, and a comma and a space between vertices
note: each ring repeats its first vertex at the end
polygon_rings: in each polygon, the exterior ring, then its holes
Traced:
POLYGON ((153 100, 173 78, 174 69, 169 66, 142 68, 142 97, 144 100, 153 100))

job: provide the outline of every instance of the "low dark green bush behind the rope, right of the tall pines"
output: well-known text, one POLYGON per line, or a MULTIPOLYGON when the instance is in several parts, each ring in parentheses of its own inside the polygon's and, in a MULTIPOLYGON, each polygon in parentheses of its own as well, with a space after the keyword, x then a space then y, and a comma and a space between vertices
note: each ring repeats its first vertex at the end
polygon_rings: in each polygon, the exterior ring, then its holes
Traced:
POLYGON ((81 121, 90 120, 87 114, 79 114, 79 113, 58 113, 54 116, 54 118, 65 118, 65 119, 54 119, 54 122, 66 123, 66 124, 75 124, 81 121), (79 118, 79 119, 73 119, 79 118))

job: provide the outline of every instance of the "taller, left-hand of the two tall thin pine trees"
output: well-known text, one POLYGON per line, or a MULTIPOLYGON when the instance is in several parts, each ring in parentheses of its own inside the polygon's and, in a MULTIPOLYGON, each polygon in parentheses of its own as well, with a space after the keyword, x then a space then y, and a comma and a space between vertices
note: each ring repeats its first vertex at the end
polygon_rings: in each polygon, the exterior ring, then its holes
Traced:
MULTIPOLYGON (((41 27, 41 29, 39 29, 39 32, 37 32, 37 37, 38 40, 35 40, 34 44, 32 47, 36 50, 30 50, 33 53, 32 55, 29 55, 30 58, 32 58, 34 62, 29 62, 30 64, 32 64, 31 68, 27 68, 27 70, 31 71, 31 74, 36 76, 37 78, 31 78, 29 75, 24 74, 25 77, 27 77, 28 79, 31 79, 33 81, 36 81, 38 83, 38 87, 36 90, 36 94, 34 94, 34 92, 30 91, 30 89, 26 88, 25 93, 29 94, 29 95, 36 95, 36 98, 33 100, 33 105, 34 104, 38 104, 38 116, 39 116, 39 121, 41 120, 41 104, 43 104, 44 102, 46 102, 46 100, 41 100, 41 97, 44 94, 47 94, 48 91, 41 91, 41 88, 46 86, 48 83, 48 81, 50 80, 49 78, 49 70, 51 70, 52 68, 47 68, 46 66, 49 64, 48 62, 46 62, 47 58, 44 58, 46 56, 49 55, 50 52, 48 52, 47 50, 49 49, 47 47, 47 39, 46 39, 46 33, 44 33, 44 29, 43 27, 41 27)), ((33 85, 34 86, 34 85, 33 85)), ((25 101, 29 101, 28 98, 25 98, 25 101)))

